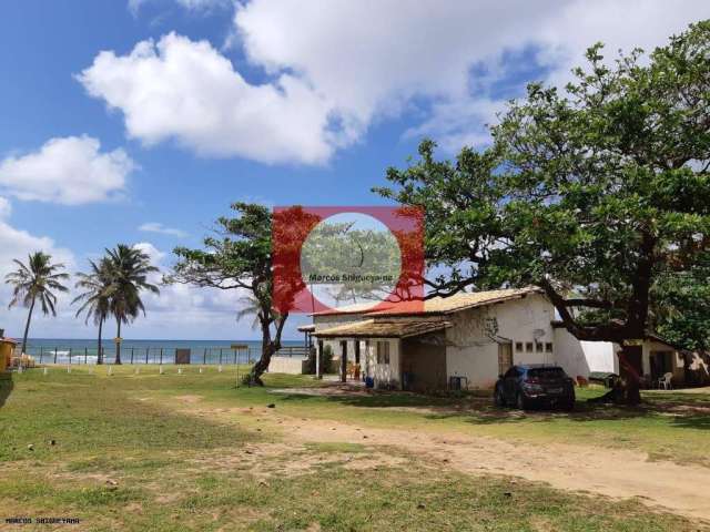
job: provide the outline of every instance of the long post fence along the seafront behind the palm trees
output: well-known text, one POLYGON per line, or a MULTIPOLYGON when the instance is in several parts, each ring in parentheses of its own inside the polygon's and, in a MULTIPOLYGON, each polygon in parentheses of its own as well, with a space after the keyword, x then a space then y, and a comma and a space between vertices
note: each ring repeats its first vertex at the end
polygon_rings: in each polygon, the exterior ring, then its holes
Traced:
MULTIPOLYGON (((190 350, 190 362, 202 365, 252 364, 261 358, 260 347, 231 349, 229 347, 121 347, 121 362, 123 364, 175 364, 175 351, 190 350)), ((115 347, 101 349, 104 364, 115 364, 115 347)), ((306 358, 307 348, 304 346, 286 346, 275 356, 290 358, 306 358)), ((28 346, 27 354, 37 364, 97 364, 99 349, 97 347, 62 347, 62 346, 28 346)))

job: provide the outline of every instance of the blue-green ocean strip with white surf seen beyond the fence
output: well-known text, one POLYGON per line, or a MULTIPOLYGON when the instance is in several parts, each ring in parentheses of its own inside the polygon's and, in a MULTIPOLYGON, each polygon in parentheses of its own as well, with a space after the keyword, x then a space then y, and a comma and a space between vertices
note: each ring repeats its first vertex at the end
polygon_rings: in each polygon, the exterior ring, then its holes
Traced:
MULTIPOLYGON (((21 339, 20 339, 21 341, 21 339)), ((258 340, 131 340, 121 342, 123 364, 173 364, 176 349, 189 349, 191 364, 248 364, 261 356, 258 340), (240 346, 232 349, 232 346, 240 346)), ((303 340, 283 340, 284 352, 298 355, 303 340)), ((115 361, 113 338, 102 342, 106 364, 115 361)), ((27 354, 40 364, 97 364, 97 339, 28 339, 27 354)), ((301 354, 302 356, 302 354, 301 354)))

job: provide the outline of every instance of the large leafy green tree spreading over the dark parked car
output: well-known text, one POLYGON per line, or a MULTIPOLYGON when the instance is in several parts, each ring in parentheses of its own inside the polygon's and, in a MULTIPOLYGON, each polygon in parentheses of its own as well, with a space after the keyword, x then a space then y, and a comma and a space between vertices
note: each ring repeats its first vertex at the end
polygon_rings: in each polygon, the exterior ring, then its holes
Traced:
MULTIPOLYGON (((528 86, 493 146, 389 168, 381 194, 426 211, 432 294, 532 284, 581 340, 645 338, 663 283, 710 245, 710 22, 648 58, 588 50, 565 91, 528 86)), ((640 400, 628 371, 626 399, 640 400)))

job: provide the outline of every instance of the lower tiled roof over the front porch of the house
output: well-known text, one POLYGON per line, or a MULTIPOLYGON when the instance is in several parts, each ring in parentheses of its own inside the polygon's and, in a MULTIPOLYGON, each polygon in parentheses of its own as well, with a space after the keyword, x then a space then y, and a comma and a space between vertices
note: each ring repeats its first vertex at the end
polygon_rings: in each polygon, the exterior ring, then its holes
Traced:
POLYGON ((365 319, 318 330, 315 336, 325 338, 408 338, 436 332, 448 327, 452 327, 452 323, 443 320, 385 321, 365 319))

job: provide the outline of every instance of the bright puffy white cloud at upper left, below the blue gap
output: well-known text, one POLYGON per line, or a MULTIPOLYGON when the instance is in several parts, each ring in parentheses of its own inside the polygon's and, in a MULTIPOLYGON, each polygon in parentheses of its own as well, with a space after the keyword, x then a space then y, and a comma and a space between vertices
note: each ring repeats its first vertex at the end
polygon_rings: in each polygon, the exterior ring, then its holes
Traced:
POLYGON ((142 41, 125 57, 101 52, 79 80, 121 109, 132 137, 169 139, 213 156, 265 163, 328 158, 328 109, 302 80, 282 74, 247 83, 206 41, 171 33, 142 41))

